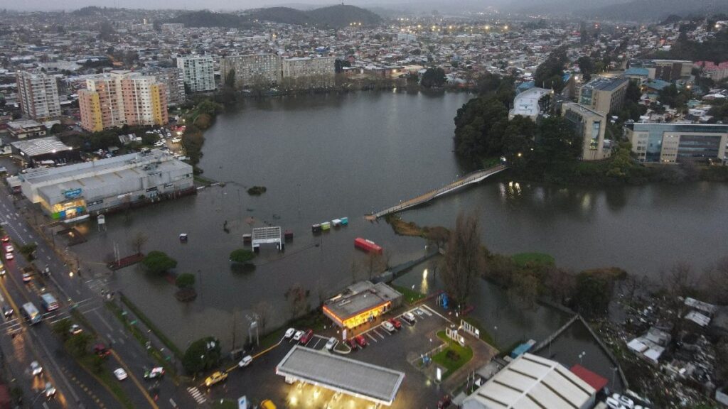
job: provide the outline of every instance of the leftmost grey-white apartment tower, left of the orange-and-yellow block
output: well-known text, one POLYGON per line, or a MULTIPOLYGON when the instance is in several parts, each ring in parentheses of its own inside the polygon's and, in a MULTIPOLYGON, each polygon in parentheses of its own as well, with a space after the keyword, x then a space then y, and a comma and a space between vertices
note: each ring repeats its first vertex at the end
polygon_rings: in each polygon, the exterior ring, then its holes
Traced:
POLYGON ((60 116, 58 82, 55 76, 41 72, 17 71, 17 99, 23 114, 33 119, 60 116))

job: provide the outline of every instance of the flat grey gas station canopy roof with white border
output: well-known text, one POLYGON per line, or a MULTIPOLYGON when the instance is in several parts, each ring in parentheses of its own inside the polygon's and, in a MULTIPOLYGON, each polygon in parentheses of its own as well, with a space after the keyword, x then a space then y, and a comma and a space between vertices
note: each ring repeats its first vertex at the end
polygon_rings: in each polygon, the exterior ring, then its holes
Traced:
POLYGON ((276 373, 384 405, 392 405, 405 374, 304 346, 293 346, 276 373))

